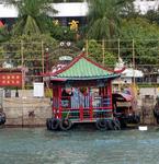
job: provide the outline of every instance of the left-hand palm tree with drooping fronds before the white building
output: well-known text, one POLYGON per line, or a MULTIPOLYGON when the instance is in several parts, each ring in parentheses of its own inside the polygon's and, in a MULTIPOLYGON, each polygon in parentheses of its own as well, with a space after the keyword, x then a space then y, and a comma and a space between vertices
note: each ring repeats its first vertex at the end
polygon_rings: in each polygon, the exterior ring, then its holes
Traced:
POLYGON ((13 27, 15 35, 46 33, 48 30, 48 12, 55 13, 53 0, 5 0, 19 11, 19 19, 13 27))

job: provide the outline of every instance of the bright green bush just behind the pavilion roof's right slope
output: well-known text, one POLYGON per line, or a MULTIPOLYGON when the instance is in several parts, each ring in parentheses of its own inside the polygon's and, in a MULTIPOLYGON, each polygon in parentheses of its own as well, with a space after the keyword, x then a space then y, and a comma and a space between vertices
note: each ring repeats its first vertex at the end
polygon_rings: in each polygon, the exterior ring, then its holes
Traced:
POLYGON ((92 59, 94 59, 100 63, 104 62, 105 66, 114 67, 116 62, 115 55, 113 55, 112 52, 104 51, 103 58, 102 45, 94 39, 89 40, 88 51, 89 57, 91 57, 92 59))

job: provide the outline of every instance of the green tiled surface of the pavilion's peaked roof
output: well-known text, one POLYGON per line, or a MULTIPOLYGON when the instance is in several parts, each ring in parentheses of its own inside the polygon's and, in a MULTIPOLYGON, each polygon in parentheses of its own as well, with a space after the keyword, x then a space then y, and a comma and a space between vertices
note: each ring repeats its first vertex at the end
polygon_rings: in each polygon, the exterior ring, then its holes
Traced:
POLYGON ((61 79, 106 79, 115 77, 118 77, 118 74, 98 66, 86 57, 80 57, 77 61, 72 61, 71 66, 54 75, 54 78, 61 79))

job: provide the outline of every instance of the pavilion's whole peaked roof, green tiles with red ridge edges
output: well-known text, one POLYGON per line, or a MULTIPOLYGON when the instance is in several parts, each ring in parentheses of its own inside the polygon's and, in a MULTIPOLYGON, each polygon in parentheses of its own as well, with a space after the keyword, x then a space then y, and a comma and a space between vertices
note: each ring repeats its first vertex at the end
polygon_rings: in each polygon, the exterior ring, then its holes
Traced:
POLYGON ((68 66, 50 74, 52 80, 93 80, 114 79, 120 73, 105 69, 93 60, 87 58, 84 54, 76 57, 68 66))

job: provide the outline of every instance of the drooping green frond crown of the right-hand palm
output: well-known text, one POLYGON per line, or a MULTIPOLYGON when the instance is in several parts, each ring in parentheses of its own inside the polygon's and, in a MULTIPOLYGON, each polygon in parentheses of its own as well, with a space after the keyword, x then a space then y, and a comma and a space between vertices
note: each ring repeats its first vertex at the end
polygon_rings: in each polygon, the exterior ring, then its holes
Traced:
POLYGON ((116 0, 91 0, 89 2, 88 36, 94 39, 112 38, 118 32, 116 0))

